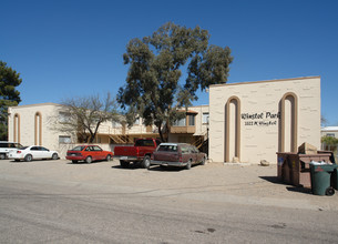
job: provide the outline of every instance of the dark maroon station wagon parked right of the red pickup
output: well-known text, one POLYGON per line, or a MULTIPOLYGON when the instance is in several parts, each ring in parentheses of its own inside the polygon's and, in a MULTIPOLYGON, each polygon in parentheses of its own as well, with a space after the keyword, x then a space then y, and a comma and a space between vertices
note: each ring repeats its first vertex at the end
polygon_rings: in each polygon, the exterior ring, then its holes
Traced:
POLYGON ((193 164, 204 165, 206 154, 187 143, 161 143, 153 152, 151 164, 161 166, 184 166, 190 170, 193 164))

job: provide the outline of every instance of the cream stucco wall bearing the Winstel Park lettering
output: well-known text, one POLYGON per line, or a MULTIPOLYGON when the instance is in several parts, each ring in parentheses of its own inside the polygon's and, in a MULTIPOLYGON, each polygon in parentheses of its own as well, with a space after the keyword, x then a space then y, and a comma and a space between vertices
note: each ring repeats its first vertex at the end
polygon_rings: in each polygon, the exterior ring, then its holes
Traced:
MULTIPOLYGON (((267 160, 276 163, 276 152, 280 149, 280 125, 278 118, 267 118, 267 114, 280 112, 280 101, 287 93, 295 94, 297 100, 297 134, 285 133, 285 144, 289 144, 295 135, 297 146, 308 142, 320 148, 320 78, 297 78, 262 82, 245 82, 209 88, 209 157, 214 162, 225 162, 226 159, 226 122, 225 111, 229 98, 238 99, 240 114, 239 160, 240 162, 259 163, 267 160), (257 118, 243 119, 243 114, 257 118), (260 114, 263 115, 260 118, 260 114), (264 123, 265 125, 259 125, 264 123)), ((289 130, 290 109, 285 103, 286 132, 289 130)), ((232 108, 233 104, 229 105, 232 108)), ((234 113, 231 109, 229 114, 234 113)), ((234 115, 234 114, 233 114, 234 115)), ((232 116, 234 118, 234 116, 232 116)), ((229 149, 235 150, 234 119, 229 120, 229 149)), ((285 146, 289 151, 290 146, 285 146)), ((232 153, 231 152, 231 153, 232 153)), ((232 156, 231 160, 232 161, 232 156)))

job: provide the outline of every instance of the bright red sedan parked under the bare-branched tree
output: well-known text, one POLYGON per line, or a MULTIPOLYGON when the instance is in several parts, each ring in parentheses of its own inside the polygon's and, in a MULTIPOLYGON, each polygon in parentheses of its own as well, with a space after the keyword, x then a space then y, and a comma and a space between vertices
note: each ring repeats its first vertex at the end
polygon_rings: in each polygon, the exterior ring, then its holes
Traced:
POLYGON ((71 160, 73 163, 79 161, 91 163, 100 160, 110 161, 112 156, 112 152, 103 151, 99 145, 78 145, 66 152, 65 159, 71 160))

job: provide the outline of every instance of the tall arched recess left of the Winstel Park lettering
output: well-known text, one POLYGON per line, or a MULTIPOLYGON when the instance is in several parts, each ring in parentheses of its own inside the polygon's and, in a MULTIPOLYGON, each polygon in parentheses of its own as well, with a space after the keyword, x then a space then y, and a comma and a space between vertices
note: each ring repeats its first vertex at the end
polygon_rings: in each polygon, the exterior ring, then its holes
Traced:
POLYGON ((240 100, 232 96, 225 105, 225 162, 240 161, 240 100))

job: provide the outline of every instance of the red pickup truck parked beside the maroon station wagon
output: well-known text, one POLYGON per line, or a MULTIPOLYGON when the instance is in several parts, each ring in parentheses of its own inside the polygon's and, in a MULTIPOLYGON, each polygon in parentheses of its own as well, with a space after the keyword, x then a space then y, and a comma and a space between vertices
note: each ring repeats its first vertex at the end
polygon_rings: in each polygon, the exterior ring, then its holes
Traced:
POLYGON ((120 160, 122 167, 129 167, 130 163, 141 163, 141 166, 148 169, 151 156, 157 145, 161 144, 156 139, 139 139, 134 146, 115 146, 114 157, 120 160))

